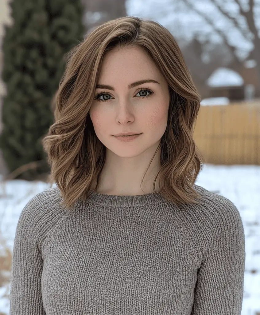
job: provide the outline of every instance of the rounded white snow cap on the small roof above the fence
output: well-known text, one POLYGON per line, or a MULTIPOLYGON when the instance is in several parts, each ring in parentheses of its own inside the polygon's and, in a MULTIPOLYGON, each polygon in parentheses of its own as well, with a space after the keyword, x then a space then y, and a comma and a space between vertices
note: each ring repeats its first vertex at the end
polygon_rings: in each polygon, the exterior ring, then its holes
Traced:
POLYGON ((228 68, 218 68, 207 79, 207 85, 210 87, 219 86, 242 86, 244 80, 241 75, 228 68))

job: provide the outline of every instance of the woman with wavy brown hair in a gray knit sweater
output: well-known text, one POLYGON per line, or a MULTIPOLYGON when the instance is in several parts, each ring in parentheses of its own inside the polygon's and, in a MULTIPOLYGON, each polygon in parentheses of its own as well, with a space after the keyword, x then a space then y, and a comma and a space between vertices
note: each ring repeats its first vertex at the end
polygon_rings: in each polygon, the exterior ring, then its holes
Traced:
POLYGON ((57 187, 19 217, 10 315, 241 314, 241 216, 194 184, 200 96, 169 31, 98 26, 56 101, 43 145, 57 187))

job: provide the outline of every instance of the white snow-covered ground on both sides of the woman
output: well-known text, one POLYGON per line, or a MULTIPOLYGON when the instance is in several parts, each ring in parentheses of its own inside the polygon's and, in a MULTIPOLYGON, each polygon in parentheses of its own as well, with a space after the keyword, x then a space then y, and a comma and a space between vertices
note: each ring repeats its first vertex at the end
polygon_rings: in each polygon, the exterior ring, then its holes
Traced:
MULTIPOLYGON (((230 199, 240 211, 246 238, 241 315, 255 315, 260 312, 260 166, 205 164, 196 184, 230 199)), ((0 185, 0 228, 11 251, 21 210, 34 195, 49 187, 22 180, 0 185)), ((5 291, 0 288, 0 313, 8 314, 9 300, 2 297, 5 291)))

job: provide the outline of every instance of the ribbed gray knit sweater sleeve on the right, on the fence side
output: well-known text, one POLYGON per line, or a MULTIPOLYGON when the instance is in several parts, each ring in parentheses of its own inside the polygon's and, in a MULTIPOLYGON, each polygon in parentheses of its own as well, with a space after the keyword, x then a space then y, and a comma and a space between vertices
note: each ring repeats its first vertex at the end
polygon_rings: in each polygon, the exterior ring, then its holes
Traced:
POLYGON ((240 213, 228 199, 216 212, 212 237, 198 270, 191 315, 241 315, 245 233, 240 213))

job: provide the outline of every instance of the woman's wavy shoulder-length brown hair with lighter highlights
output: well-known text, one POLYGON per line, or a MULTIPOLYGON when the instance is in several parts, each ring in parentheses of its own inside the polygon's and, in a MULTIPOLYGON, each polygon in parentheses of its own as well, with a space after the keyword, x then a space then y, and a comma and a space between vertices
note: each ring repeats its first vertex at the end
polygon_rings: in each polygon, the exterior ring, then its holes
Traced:
POLYGON ((202 197, 193 184, 204 160, 192 138, 200 95, 171 33, 155 21, 126 16, 97 26, 66 55, 66 70, 54 99, 55 123, 42 144, 51 181, 60 189, 67 209, 78 199, 86 200, 93 184, 95 189, 99 185, 106 147, 95 134, 89 110, 104 55, 126 46, 148 52, 169 86, 167 127, 156 150, 161 146, 161 168, 153 190, 159 177, 158 193, 170 202, 199 203, 202 197))

